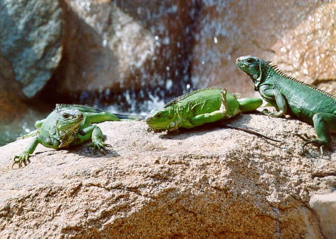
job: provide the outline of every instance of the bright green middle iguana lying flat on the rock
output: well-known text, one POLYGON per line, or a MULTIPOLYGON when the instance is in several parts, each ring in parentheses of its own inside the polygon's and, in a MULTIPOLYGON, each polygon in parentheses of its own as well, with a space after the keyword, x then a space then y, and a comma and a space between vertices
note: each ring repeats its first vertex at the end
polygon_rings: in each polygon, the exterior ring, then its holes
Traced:
POLYGON ((200 89, 174 98, 163 108, 153 109, 146 123, 154 130, 189 129, 230 119, 241 112, 253 111, 261 104, 261 98, 237 99, 224 88, 200 89))

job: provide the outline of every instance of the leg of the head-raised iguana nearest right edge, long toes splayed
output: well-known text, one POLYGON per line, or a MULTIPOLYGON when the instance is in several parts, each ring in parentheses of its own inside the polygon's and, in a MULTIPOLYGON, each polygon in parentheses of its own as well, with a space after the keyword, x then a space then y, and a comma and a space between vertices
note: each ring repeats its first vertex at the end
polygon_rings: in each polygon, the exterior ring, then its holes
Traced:
POLYGON ((302 145, 301 151, 304 154, 304 147, 307 144, 315 144, 320 147, 323 154, 323 147, 331 142, 330 132, 336 133, 336 115, 329 113, 316 113, 313 116, 314 128, 317 137, 309 137, 307 135, 295 134, 300 137, 305 143, 302 145))

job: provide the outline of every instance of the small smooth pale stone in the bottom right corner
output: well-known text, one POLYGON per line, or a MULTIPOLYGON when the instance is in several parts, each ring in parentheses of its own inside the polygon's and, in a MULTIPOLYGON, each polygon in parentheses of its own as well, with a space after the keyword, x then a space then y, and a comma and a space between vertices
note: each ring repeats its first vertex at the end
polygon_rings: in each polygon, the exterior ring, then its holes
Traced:
POLYGON ((336 191, 314 195, 309 204, 320 218, 323 235, 330 239, 336 238, 336 191))

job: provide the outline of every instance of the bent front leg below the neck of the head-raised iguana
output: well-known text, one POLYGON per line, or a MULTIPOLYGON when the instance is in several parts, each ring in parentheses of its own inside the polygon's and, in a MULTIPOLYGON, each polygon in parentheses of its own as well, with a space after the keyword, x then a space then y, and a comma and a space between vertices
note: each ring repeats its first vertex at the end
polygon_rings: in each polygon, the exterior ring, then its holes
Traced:
POLYGON ((268 115, 268 117, 281 117, 287 112, 286 98, 281 94, 280 91, 276 89, 269 89, 267 86, 260 87, 260 95, 267 101, 272 103, 275 101, 278 111, 270 112, 268 109, 263 110, 263 114, 268 115))

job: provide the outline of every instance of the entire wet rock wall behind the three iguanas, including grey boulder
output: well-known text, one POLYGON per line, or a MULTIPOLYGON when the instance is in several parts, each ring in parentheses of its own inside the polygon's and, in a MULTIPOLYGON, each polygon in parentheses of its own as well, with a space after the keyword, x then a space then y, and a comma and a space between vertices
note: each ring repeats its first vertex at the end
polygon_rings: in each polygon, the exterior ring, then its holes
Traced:
POLYGON ((237 57, 248 54, 336 94, 334 1, 1 4, 0 36, 6 41, 0 51, 13 71, 1 87, 9 92, 17 85, 23 98, 139 109, 132 104, 207 86, 252 96, 252 82, 235 66, 237 57))

